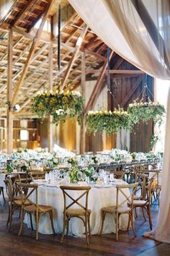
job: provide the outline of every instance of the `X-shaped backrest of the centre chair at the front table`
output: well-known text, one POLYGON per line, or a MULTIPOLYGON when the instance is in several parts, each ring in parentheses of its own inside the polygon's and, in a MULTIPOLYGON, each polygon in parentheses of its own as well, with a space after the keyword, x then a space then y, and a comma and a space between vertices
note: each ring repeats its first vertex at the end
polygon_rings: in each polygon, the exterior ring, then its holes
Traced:
POLYGON ((71 206, 73 205, 79 205, 79 208, 82 208, 85 210, 85 212, 87 213, 88 210, 88 198, 89 198, 89 190, 91 189, 91 187, 86 186, 86 187, 72 187, 72 186, 61 186, 60 187, 63 191, 63 197, 64 197, 64 213, 66 213, 66 210, 68 210, 68 208, 71 208, 71 206), (82 191, 81 195, 79 195, 79 197, 77 197, 76 199, 73 198, 68 191, 82 191), (80 199, 82 197, 86 197, 85 200, 85 205, 82 205, 80 202, 80 199), (67 198, 71 199, 71 203, 67 204, 67 198))

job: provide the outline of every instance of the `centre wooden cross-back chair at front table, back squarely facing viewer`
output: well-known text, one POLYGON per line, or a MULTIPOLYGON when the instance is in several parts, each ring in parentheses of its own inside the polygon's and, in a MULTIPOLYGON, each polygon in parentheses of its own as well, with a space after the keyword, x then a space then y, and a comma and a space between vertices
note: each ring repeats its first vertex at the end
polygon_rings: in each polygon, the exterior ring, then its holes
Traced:
POLYGON ((91 187, 72 187, 72 186, 61 186, 63 191, 64 198, 64 210, 63 210, 63 233, 61 236, 61 243, 63 242, 63 237, 65 234, 65 230, 69 229, 69 221, 71 218, 80 218, 84 223, 85 234, 86 234, 86 244, 89 244, 89 236, 91 236, 90 231, 90 214, 91 210, 88 209, 88 198, 89 198, 89 190, 91 187), (82 191, 81 195, 76 199, 73 198, 68 192, 69 191, 82 191), (82 197, 85 197, 85 205, 82 205, 81 200, 82 197), (69 198, 72 202, 67 204, 67 198, 69 198), (78 205, 79 208, 71 208, 73 205, 78 205), (89 235, 89 236, 88 236, 89 235))

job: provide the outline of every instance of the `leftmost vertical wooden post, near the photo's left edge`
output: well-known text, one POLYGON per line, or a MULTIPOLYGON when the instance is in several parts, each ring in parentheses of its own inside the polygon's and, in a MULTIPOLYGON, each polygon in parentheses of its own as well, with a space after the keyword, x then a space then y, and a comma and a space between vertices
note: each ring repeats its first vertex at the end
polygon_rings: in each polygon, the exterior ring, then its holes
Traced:
POLYGON ((7 153, 12 153, 12 142, 13 142, 13 119, 12 119, 12 30, 9 30, 9 41, 8 41, 8 70, 7 70, 7 137, 6 137, 6 148, 7 153))

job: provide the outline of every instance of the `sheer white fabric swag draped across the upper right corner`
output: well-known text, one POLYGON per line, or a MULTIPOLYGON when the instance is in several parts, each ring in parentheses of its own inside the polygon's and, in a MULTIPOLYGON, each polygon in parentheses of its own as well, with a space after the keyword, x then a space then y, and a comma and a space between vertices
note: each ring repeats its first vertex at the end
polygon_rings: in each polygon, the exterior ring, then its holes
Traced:
POLYGON ((169 0, 140 1, 144 10, 146 9, 143 17, 140 17, 133 0, 69 2, 91 30, 122 58, 153 77, 170 80, 169 0), (146 14, 150 20, 146 19, 146 14), (151 25, 158 33, 153 37, 148 31, 151 25), (158 40, 157 44, 154 42, 155 38, 158 40))

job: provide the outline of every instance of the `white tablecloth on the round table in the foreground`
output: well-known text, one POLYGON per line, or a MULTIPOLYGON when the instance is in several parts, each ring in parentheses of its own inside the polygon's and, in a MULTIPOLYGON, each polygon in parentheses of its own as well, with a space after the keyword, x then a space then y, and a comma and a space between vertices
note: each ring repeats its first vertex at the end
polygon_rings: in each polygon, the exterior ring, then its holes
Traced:
MULTIPOLYGON (((70 191, 71 192, 71 191, 70 191)), ((70 193, 69 192, 69 193, 70 193)), ((81 192, 71 192, 71 195, 79 197, 81 192)), ((39 204, 53 206, 53 222, 55 232, 61 233, 63 231, 63 192, 59 187, 39 187, 39 204)), ((127 189, 126 194, 129 194, 127 189)), ((120 195, 120 202, 125 197, 120 195)), ((32 194, 32 201, 35 201, 35 193, 32 194)), ((115 205, 116 202, 116 187, 92 187, 89 191, 89 209, 91 210, 91 234, 99 234, 101 227, 101 209, 105 206, 115 205)), ((75 206, 76 208, 79 206, 75 206)), ((33 226, 35 227, 35 218, 32 218, 33 226)), ((30 218, 25 215, 25 223, 30 227, 30 218)), ((120 218, 120 229, 126 229, 128 224, 128 215, 122 214, 120 218)), ((50 225, 50 218, 48 213, 42 215, 40 219, 39 232, 41 234, 52 234, 50 225)), ((107 214, 104 221, 103 233, 110 234, 115 232, 115 221, 114 218, 107 214)), ((84 225, 79 218, 72 218, 69 223, 69 234, 79 236, 84 234, 84 225)))

